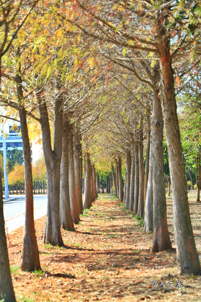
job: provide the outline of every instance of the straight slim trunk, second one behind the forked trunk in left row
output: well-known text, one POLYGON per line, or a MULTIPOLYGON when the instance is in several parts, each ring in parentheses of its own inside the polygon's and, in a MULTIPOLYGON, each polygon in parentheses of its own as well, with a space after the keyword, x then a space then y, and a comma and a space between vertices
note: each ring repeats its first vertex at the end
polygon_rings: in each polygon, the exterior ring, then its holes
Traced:
MULTIPOLYGON (((74 152, 73 152, 73 124, 68 123, 69 143, 68 143, 68 156, 69 156, 69 192, 71 202, 71 215, 75 224, 80 222, 80 204, 77 199, 78 191, 76 194, 76 181, 75 181, 75 167, 74 167, 74 152)), ((79 176, 78 176, 79 177, 79 176)))

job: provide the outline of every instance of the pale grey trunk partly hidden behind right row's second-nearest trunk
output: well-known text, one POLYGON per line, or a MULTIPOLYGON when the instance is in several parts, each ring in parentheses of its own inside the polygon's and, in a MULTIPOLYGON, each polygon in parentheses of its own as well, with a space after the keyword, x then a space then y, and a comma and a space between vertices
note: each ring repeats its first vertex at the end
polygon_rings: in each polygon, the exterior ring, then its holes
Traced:
POLYGON ((144 231, 146 234, 149 234, 150 231, 153 231, 153 175, 152 175, 152 138, 150 140, 150 150, 149 150, 149 176, 146 190, 146 200, 144 208, 144 231))

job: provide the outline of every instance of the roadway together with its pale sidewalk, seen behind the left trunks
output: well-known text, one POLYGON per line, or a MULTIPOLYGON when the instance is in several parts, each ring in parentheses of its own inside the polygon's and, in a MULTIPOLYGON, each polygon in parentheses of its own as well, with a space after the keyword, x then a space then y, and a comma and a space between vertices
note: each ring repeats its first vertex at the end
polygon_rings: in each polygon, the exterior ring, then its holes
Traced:
MULTIPOLYGON (((4 219, 6 231, 8 233, 24 225, 25 213, 25 196, 12 195, 20 198, 15 201, 4 202, 4 219)), ((43 217, 47 213, 47 195, 35 195, 33 198, 34 220, 43 217)))

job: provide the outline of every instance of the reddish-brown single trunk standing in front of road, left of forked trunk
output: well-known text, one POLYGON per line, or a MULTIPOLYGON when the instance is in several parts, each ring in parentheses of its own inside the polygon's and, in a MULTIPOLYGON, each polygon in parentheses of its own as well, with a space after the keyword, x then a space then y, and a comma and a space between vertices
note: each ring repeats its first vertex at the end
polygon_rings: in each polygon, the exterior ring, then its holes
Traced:
POLYGON ((23 231, 23 244, 21 249, 21 269, 22 271, 33 271, 35 269, 39 270, 41 269, 41 267, 33 218, 33 180, 31 166, 31 148, 27 129, 26 111, 23 104, 23 91, 21 85, 22 80, 19 73, 17 73, 15 79, 17 82, 18 103, 22 106, 19 110, 19 116, 21 124, 25 178, 25 223, 23 231))

